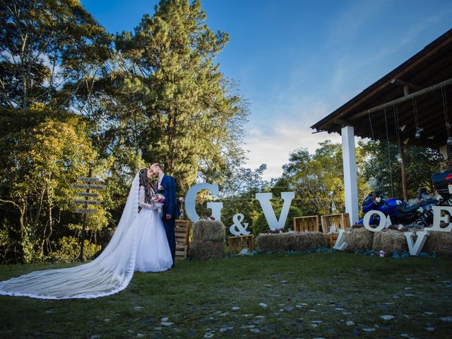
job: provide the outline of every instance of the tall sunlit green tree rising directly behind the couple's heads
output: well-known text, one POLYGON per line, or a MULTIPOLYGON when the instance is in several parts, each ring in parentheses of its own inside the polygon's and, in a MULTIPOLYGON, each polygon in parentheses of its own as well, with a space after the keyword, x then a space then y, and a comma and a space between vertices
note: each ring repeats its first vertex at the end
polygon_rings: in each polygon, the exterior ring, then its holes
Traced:
POLYGON ((143 158, 162 162, 182 186, 194 183, 201 168, 211 177, 228 158, 243 157, 237 138, 246 107, 213 64, 228 39, 208 28, 198 0, 162 0, 133 34, 117 37, 129 60, 125 88, 142 111, 143 158))

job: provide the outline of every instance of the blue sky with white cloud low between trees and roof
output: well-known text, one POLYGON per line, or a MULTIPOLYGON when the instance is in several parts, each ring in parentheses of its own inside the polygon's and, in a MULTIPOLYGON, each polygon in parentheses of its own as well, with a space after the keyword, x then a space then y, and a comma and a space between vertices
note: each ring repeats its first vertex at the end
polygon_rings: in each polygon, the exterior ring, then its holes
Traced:
MULTIPOLYGON (((153 0, 82 0, 109 31, 133 30, 153 0)), ((220 70, 250 103, 246 165, 279 177, 289 153, 340 136, 309 126, 452 28, 448 0, 204 0, 230 35, 220 70)))

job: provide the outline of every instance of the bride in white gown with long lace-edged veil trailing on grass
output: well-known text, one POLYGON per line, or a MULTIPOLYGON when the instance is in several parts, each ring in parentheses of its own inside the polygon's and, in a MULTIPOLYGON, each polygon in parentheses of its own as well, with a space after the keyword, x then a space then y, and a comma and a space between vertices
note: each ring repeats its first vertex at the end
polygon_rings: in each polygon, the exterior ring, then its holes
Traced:
POLYGON ((39 299, 97 298, 129 285, 134 271, 160 272, 172 266, 165 228, 148 168, 133 179, 121 220, 104 251, 90 263, 40 270, 0 282, 0 295, 39 299))

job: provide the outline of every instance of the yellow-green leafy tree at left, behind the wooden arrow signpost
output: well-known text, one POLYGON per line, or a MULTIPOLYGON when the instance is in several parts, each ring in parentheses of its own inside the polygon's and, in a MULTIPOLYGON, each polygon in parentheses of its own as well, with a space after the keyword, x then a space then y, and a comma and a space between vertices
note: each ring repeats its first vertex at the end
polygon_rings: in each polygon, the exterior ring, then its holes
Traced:
MULTIPOLYGON (((45 116, 42 109, 37 105, 20 114, 45 116)), ((64 234, 61 227, 78 218, 71 213, 76 192, 70 185, 86 175, 96 157, 85 128, 78 117, 44 119, 1 138, 10 150, 1 159, 10 166, 0 172, 1 191, 8 196, 0 202, 13 212, 5 215, 14 225, 8 236, 20 244, 24 261, 49 254, 51 237, 64 234)))

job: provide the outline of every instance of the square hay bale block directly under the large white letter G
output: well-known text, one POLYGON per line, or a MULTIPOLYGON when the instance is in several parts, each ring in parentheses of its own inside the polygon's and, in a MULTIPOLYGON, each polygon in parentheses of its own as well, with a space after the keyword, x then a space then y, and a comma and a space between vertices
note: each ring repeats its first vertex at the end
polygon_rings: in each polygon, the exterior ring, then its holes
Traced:
POLYGON ((191 229, 190 258, 205 260, 225 257, 226 231, 222 222, 199 220, 191 229))

